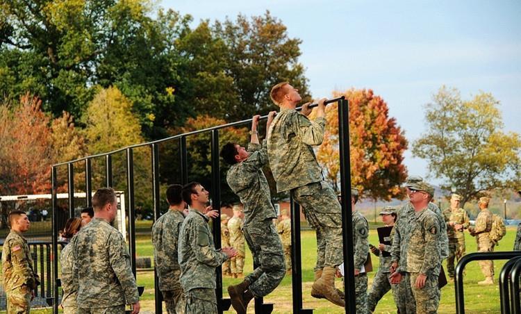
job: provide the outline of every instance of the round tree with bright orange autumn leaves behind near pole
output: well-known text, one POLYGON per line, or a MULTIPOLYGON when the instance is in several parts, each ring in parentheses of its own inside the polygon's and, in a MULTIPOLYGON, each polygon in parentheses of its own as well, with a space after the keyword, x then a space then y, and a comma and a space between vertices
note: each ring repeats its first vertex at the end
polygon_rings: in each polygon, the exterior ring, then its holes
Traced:
MULTIPOLYGON (((385 101, 372 90, 333 92, 349 101, 349 144, 351 153, 351 184, 364 197, 390 200, 403 197, 399 188, 407 176, 403 165, 407 140, 389 117, 385 101)), ((327 179, 338 189, 340 160, 338 151, 338 105, 326 108, 326 133, 318 148, 317 159, 327 170, 327 179)))

